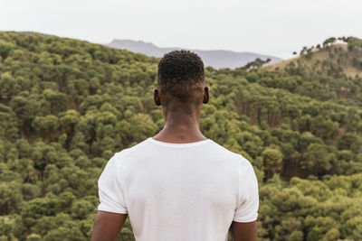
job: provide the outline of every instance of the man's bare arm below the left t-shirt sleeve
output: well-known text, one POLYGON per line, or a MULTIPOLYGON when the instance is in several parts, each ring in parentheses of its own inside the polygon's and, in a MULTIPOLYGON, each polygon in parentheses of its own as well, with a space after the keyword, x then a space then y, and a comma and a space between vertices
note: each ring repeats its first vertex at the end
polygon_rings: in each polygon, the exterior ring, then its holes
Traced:
POLYGON ((94 219, 91 241, 114 241, 123 227, 127 214, 98 211, 94 219))

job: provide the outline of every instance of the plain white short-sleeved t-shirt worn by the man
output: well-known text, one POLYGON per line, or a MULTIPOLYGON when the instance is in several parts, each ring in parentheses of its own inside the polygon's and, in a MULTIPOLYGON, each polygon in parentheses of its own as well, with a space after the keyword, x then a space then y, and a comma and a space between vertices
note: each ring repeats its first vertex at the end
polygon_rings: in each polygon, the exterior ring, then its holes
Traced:
POLYGON ((213 140, 152 137, 115 153, 98 181, 99 210, 128 213, 137 241, 224 241, 259 208, 252 164, 213 140))

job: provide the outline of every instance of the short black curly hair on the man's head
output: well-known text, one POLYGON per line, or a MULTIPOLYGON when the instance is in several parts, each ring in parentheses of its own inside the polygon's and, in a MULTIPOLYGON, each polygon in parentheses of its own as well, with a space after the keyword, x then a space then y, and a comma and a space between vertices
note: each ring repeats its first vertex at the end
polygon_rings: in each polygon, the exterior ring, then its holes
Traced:
POLYGON ((195 52, 170 51, 158 63, 157 85, 170 96, 190 97, 204 82, 204 62, 195 52))

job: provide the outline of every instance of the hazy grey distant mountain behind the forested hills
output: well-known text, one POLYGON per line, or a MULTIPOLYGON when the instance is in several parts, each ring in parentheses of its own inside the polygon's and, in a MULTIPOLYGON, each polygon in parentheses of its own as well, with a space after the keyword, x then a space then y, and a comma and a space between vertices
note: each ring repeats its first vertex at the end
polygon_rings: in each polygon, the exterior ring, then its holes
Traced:
POLYGON ((168 51, 173 50, 189 50, 197 53, 205 63, 205 66, 212 66, 215 69, 220 68, 238 68, 242 67, 248 62, 260 58, 262 60, 271 59, 270 64, 281 61, 281 58, 275 56, 262 55, 254 52, 236 52, 236 51, 200 51, 191 50, 186 48, 172 47, 161 48, 157 47, 151 42, 132 41, 132 40, 113 40, 112 42, 105 44, 108 47, 115 49, 125 49, 128 51, 143 53, 148 56, 162 57, 168 51))

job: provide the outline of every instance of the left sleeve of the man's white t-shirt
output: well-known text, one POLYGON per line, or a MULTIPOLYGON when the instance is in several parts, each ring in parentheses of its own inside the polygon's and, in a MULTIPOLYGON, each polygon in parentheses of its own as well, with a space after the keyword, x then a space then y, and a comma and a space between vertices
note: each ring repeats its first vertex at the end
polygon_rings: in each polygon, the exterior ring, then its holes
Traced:
POLYGON ((116 162, 116 154, 100 174, 98 180, 98 193, 100 197, 100 205, 98 210, 114 213, 128 213, 126 203, 123 197, 123 191, 119 183, 119 166, 116 162))

